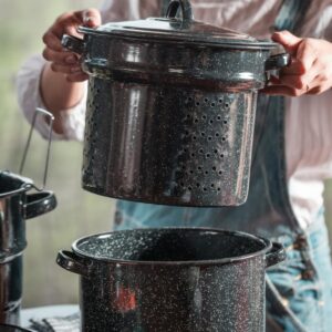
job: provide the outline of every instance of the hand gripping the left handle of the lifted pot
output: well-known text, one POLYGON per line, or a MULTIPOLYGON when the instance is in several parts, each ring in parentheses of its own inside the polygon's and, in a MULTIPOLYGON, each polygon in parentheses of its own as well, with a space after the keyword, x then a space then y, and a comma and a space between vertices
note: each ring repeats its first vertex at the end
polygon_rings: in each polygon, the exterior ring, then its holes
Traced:
POLYGON ((45 49, 43 56, 51 62, 54 72, 63 73, 70 82, 81 82, 87 79, 82 72, 80 55, 64 50, 61 45, 63 34, 82 38, 76 31, 79 25, 94 28, 101 24, 101 14, 96 9, 68 12, 59 17, 43 35, 45 49))

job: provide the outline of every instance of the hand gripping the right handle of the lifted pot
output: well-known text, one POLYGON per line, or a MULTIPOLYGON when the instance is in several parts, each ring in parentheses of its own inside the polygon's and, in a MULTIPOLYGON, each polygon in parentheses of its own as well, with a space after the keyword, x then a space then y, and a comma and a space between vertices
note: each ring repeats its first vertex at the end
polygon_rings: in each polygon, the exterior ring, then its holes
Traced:
POLYGON ((272 40, 291 54, 291 64, 271 76, 262 92, 300 96, 320 94, 332 86, 332 43, 322 39, 298 38, 289 31, 274 32, 272 40))

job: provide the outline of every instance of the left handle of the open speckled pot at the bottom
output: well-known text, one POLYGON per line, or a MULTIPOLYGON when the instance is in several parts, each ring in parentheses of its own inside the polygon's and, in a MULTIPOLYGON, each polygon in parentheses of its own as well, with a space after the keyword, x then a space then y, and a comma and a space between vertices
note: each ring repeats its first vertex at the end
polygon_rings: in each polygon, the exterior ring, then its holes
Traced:
POLYGON ((75 252, 69 250, 60 250, 56 257, 56 263, 70 271, 77 274, 81 274, 85 278, 90 278, 91 276, 91 266, 87 264, 86 261, 79 257, 75 252))

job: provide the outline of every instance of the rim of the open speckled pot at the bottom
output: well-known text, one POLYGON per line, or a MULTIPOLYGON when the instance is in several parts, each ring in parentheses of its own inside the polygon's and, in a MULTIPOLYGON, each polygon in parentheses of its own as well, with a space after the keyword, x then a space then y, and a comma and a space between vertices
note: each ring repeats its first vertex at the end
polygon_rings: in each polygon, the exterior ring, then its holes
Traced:
MULTIPOLYGON (((163 227, 163 228, 135 228, 135 229, 125 229, 125 230, 115 230, 115 231, 108 231, 108 232, 101 232, 86 237, 82 237, 77 240, 75 240, 72 243, 72 250, 75 255, 80 256, 83 259, 91 260, 91 263, 93 262, 104 262, 104 263, 116 263, 116 264, 126 264, 126 266, 168 266, 168 267, 179 267, 179 266, 222 266, 228 263, 235 263, 245 261, 248 259, 252 259, 255 257, 264 257, 267 258, 267 253, 270 252, 276 242, 270 241, 269 239, 258 237, 251 234, 247 234, 245 231, 237 231, 237 230, 224 230, 218 228, 207 228, 207 227, 163 227), (158 260, 128 260, 128 259, 114 259, 114 258, 106 258, 106 257, 94 257, 93 255, 90 255, 89 252, 84 252, 79 248, 79 245, 83 241, 86 241, 92 238, 97 237, 105 237, 110 236, 115 232, 132 232, 132 231, 205 231, 205 232, 218 232, 218 234, 227 234, 228 236, 238 236, 243 237, 247 239, 255 240, 256 242, 260 242, 264 247, 261 250, 257 250, 255 252, 249 252, 246 255, 237 256, 237 257, 228 257, 228 258, 221 258, 221 259, 206 259, 206 260, 185 260, 185 261, 158 261, 158 260)), ((279 250, 279 248, 277 248, 279 250)))

